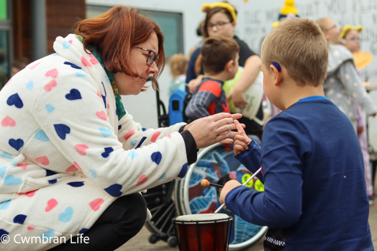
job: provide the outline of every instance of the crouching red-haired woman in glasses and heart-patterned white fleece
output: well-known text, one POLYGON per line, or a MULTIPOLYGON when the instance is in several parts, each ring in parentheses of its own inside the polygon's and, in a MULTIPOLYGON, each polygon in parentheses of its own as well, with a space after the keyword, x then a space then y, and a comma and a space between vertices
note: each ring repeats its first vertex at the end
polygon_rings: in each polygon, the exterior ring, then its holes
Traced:
POLYGON ((0 91, 0 249, 114 250, 150 217, 139 192, 182 178, 197 148, 232 142, 241 115, 133 121, 120 95, 150 75, 156 89, 165 63, 163 34, 136 9, 80 21, 54 50, 0 91))

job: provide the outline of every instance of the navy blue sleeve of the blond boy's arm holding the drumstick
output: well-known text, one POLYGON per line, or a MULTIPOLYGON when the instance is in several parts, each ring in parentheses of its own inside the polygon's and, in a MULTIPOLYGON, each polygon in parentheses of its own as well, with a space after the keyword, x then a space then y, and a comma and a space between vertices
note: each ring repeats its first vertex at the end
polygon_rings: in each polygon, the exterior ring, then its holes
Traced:
POLYGON ((265 191, 233 188, 225 204, 244 220, 270 228, 288 227, 301 215, 302 170, 298 147, 305 131, 290 121, 275 119, 264 130, 261 164, 265 191))

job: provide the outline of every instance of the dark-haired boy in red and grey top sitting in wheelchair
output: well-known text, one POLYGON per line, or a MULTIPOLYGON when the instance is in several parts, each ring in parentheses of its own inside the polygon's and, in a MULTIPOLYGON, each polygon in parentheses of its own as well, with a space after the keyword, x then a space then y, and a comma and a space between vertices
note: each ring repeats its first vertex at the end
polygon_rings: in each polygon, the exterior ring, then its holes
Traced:
POLYGON ((237 73, 239 50, 232 38, 210 37, 204 40, 200 53, 205 75, 185 109, 189 119, 196 120, 220 112, 230 113, 222 85, 237 73))

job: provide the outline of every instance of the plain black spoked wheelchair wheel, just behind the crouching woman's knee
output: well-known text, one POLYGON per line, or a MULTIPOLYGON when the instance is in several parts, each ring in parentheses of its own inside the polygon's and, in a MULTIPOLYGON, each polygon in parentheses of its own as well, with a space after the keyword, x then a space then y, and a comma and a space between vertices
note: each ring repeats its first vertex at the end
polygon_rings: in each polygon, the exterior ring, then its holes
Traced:
POLYGON ((174 246, 175 237, 172 218, 177 216, 175 203, 172 200, 175 181, 171 181, 155 188, 148 189, 143 193, 152 218, 145 223, 145 227, 152 233, 148 241, 156 243, 158 240, 168 242, 170 247, 174 246))

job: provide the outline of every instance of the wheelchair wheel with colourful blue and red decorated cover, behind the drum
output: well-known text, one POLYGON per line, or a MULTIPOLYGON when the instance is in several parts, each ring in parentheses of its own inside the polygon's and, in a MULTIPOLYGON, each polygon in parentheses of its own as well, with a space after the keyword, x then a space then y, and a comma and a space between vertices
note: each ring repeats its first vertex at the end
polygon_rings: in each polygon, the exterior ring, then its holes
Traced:
MULTIPOLYGON (((200 185, 202 179, 219 185, 230 179, 237 179, 244 183, 251 173, 233 154, 232 145, 215 144, 200 150, 198 161, 191 165, 186 176, 175 185, 175 201, 179 214, 213 213, 220 207, 220 188, 200 185)), ((263 190, 263 184, 258 178, 250 181, 246 186, 263 190)), ((233 216, 229 250, 242 250, 256 243, 267 231, 267 227, 248 223, 230 210, 223 208, 221 213, 233 216)))

